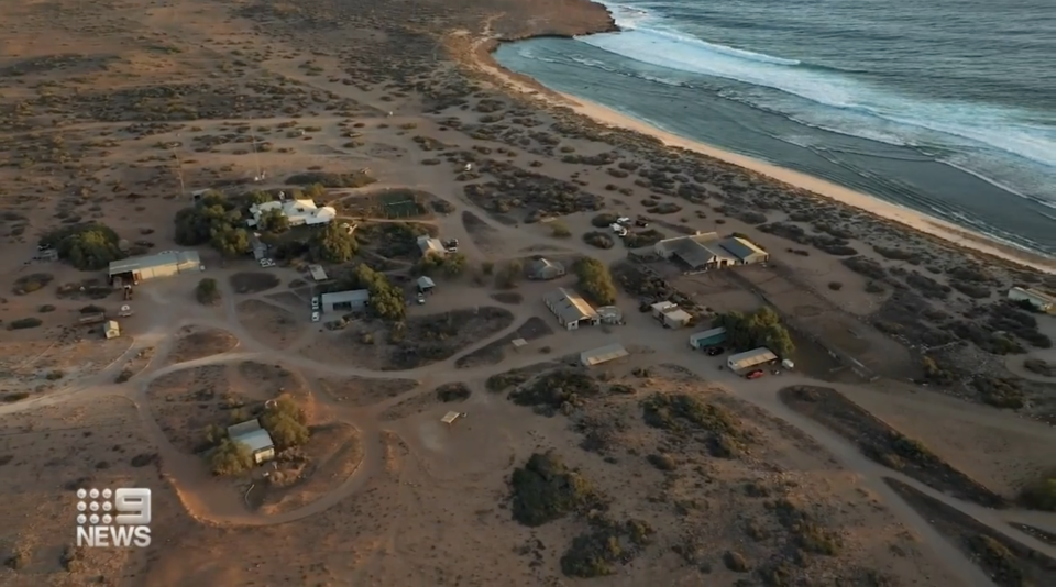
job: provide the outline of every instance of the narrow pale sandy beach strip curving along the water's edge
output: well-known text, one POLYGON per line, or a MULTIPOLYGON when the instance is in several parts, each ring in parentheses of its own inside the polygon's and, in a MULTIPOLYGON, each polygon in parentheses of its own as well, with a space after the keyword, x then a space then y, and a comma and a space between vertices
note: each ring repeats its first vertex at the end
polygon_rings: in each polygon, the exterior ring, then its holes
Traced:
POLYGON ((766 176, 770 180, 807 190, 815 197, 849 206, 860 212, 873 215, 880 221, 900 224, 905 229, 913 230, 932 239, 941 240, 947 245, 967 248, 977 254, 981 253, 1005 263, 1028 267, 1046 274, 1056 274, 1056 261, 1049 259, 1041 254, 1022 251, 1012 245, 996 241, 985 234, 958 226, 952 222, 933 218, 923 212, 884 201, 875 196, 856 191, 802 171, 788 169, 755 157, 740 155, 701 141, 680 136, 612 108, 548 88, 539 80, 525 74, 512 71, 495 60, 492 54, 501 44, 516 43, 518 41, 524 41, 524 38, 505 40, 493 36, 477 38, 473 43, 473 49, 470 52, 472 59, 471 65, 513 91, 535 98, 552 108, 572 110, 603 126, 629 130, 656 139, 667 147, 691 151, 723 163, 741 167, 755 174, 766 176))

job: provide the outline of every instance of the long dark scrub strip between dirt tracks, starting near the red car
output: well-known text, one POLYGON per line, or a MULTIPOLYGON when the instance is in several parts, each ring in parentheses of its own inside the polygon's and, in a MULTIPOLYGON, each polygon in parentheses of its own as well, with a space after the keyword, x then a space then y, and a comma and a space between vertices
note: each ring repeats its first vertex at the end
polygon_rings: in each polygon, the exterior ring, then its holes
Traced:
POLYGON ((903 435, 839 391, 826 387, 787 387, 779 397, 788 407, 855 443, 869 458, 959 499, 989 508, 1008 500, 949 466, 924 444, 903 435))

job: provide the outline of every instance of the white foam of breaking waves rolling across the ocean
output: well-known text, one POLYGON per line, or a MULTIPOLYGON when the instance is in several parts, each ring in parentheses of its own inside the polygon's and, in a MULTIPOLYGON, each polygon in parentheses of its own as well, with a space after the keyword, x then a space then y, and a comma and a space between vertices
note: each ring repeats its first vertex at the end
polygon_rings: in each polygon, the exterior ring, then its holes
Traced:
POLYGON ((922 134, 938 133, 945 135, 944 143, 997 149, 1049 173, 1056 170, 1056 126, 1023 122, 1018 112, 908 99, 795 59, 708 43, 679 32, 675 24, 649 10, 615 3, 608 8, 624 32, 580 41, 641 63, 769 88, 821 104, 826 108, 806 113, 802 107, 790 108, 787 100, 774 101, 772 95, 737 98, 833 132, 897 145, 927 144, 932 141, 922 134))

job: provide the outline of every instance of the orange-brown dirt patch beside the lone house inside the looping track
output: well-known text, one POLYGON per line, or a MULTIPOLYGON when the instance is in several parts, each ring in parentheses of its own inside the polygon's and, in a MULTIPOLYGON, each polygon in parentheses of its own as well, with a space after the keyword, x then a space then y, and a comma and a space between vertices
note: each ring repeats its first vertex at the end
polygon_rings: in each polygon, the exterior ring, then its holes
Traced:
POLYGON ((263 489, 250 499, 258 502, 262 513, 297 510, 344 483, 362 459, 362 439, 356 429, 348 424, 314 425, 308 443, 285 453, 262 484, 263 489))

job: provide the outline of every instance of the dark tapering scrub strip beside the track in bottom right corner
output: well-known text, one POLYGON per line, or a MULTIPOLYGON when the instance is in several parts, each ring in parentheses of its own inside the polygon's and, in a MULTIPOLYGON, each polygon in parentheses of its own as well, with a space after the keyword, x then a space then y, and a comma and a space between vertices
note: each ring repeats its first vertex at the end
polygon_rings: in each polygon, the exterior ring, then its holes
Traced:
POLYGON ((999 587, 1053 585, 1056 560, 977 522, 970 516, 895 479, 884 479, 999 587))

